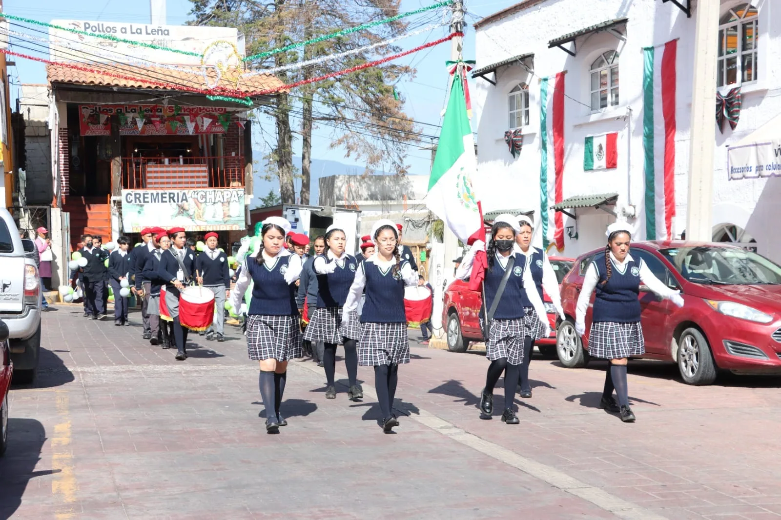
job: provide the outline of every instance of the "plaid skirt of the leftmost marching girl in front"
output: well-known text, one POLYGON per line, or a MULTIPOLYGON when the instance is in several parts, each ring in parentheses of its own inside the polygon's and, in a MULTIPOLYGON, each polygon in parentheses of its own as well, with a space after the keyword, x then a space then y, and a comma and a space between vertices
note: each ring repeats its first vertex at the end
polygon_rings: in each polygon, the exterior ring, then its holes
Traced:
POLYGON ((301 328, 296 316, 247 317, 247 351, 250 359, 287 361, 301 358, 301 328))

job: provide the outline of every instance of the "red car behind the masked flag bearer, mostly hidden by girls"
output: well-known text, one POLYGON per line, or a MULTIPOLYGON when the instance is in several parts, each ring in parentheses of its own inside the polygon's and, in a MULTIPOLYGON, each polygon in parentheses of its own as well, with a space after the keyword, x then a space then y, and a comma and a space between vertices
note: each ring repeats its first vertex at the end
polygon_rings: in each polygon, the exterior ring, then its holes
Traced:
MULTIPOLYGON (((559 287, 561 287, 562 280, 569 269, 572 269, 575 260, 558 256, 550 256, 548 260, 551 262, 551 267, 553 267, 559 287)), ((555 359, 556 309, 547 294, 543 294, 543 300, 547 320, 551 324, 551 336, 535 342, 535 345, 545 358, 555 359)), ((450 351, 465 352, 471 341, 483 341, 483 333, 480 332, 480 305, 483 305, 480 291, 469 290, 468 282, 455 280, 450 284, 448 290, 445 290, 442 322, 446 327, 445 336, 448 339, 450 351)))

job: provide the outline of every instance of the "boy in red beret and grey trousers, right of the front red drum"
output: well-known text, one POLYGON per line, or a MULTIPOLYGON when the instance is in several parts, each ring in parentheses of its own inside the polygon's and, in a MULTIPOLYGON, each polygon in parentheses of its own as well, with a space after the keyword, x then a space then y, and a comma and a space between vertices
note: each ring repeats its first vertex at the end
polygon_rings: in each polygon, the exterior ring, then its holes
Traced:
POLYGON ((228 257, 217 249, 217 233, 206 233, 206 248, 195 257, 195 272, 198 283, 214 293, 214 322, 206 330, 206 339, 225 341, 225 301, 230 297, 230 269, 228 257))

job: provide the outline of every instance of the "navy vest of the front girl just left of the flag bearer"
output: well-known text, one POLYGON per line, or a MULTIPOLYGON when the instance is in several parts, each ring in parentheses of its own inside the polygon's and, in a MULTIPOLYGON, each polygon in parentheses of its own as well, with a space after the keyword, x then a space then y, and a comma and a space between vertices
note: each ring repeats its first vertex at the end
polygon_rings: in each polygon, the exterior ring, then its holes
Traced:
MULTIPOLYGON (((401 260, 401 267, 408 263, 401 260)), ((366 273, 366 302, 361 312, 362 323, 405 323, 404 280, 393 277, 393 265, 382 272, 374 262, 362 262, 361 269, 366 273)))

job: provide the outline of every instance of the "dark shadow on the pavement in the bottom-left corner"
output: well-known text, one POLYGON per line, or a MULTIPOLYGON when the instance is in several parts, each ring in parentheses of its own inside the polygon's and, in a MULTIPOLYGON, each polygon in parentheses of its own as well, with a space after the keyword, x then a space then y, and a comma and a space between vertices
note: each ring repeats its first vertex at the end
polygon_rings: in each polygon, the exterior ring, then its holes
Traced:
POLYGON ((30 418, 8 419, 9 450, 0 458, 0 518, 11 518, 19 508, 30 480, 60 472, 59 469, 35 471, 45 441, 46 431, 41 422, 30 418))

